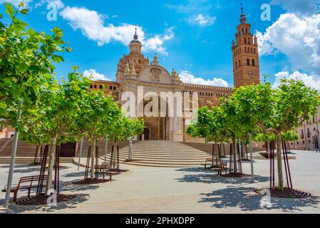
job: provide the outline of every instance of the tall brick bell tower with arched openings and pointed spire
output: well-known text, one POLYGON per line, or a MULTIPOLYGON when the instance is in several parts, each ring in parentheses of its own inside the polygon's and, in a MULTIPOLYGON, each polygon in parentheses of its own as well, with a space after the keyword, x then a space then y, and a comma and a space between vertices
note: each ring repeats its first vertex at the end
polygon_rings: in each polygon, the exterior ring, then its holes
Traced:
POLYGON ((259 53, 257 36, 250 32, 251 24, 241 6, 240 24, 235 34, 236 42, 232 41, 232 61, 234 87, 249 86, 260 83, 259 53))

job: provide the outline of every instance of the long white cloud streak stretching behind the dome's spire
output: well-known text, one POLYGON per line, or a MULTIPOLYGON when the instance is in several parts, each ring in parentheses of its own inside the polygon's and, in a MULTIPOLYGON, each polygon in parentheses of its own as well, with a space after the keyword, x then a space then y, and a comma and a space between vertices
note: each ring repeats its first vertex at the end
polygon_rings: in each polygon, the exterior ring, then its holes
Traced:
MULTIPOLYGON (((135 26, 131 24, 113 24, 104 25, 105 16, 98 14, 97 11, 91 11, 84 7, 69 7, 67 6, 60 15, 68 21, 68 24, 76 31, 80 30, 84 36, 96 41, 99 46, 103 46, 111 41, 118 41, 127 46, 133 39, 135 26)), ((143 43, 144 51, 157 51, 162 55, 167 55, 166 48, 163 46, 164 41, 174 37, 172 28, 167 29, 165 35, 145 35, 143 28, 138 26, 138 36, 143 43)))

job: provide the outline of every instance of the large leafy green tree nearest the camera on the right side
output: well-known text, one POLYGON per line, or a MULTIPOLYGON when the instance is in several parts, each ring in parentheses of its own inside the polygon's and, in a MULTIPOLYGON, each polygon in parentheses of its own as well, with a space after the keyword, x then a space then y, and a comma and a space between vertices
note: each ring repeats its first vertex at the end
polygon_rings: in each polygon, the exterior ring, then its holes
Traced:
POLYGON ((282 133, 293 130, 316 113, 320 104, 316 90, 305 86, 303 81, 282 80, 279 88, 270 83, 240 87, 235 91, 238 113, 247 123, 256 125, 261 133, 274 134, 277 142, 277 168, 279 190, 284 190, 282 174, 282 133))

